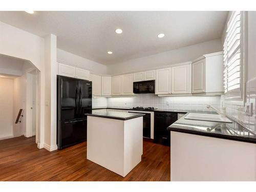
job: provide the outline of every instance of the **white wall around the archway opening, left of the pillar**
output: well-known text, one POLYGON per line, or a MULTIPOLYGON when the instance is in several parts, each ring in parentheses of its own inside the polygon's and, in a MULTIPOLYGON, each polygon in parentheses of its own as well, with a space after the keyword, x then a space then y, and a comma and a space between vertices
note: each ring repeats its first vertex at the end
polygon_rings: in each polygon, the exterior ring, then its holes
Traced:
POLYGON ((0 22, 0 54, 31 61, 40 71, 38 114, 41 133, 38 147, 41 148, 44 145, 45 128, 45 39, 0 22))

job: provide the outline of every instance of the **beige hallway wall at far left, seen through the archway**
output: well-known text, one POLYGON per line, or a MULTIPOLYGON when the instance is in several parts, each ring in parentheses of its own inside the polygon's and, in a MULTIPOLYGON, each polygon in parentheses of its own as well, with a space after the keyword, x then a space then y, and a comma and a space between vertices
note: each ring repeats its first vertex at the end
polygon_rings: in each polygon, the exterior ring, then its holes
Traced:
POLYGON ((0 140, 13 137, 13 79, 0 78, 0 140))

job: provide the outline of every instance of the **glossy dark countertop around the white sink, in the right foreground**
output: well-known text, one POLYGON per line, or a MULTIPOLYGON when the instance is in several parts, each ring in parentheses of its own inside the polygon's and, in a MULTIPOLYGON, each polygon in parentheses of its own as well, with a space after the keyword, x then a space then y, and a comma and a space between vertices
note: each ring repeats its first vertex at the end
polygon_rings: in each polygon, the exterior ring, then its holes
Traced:
POLYGON ((184 115, 182 118, 178 119, 172 125, 168 126, 167 130, 194 135, 202 135, 208 137, 256 143, 255 135, 248 132, 248 130, 245 129, 245 127, 243 127, 240 124, 237 124, 236 122, 221 123, 185 119, 185 117, 188 114, 189 113, 184 115), (236 125, 234 125, 234 123, 236 123, 236 125))

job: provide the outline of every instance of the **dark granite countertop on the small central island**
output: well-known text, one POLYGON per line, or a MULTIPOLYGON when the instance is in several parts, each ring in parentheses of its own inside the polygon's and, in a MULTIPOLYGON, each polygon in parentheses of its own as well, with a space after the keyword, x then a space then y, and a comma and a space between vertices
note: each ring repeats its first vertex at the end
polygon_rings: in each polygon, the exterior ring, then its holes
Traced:
POLYGON ((136 118, 136 117, 141 117, 145 114, 116 112, 116 111, 100 111, 100 112, 87 113, 86 115, 95 116, 95 117, 109 118, 109 119, 127 120, 127 119, 133 119, 133 118, 136 118))

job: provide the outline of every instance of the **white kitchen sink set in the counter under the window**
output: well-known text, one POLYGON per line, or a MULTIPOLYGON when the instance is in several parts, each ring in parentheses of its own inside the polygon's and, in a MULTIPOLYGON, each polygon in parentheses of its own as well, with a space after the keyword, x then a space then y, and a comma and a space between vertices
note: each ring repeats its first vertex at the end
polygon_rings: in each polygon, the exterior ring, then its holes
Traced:
POLYGON ((232 123, 232 121, 230 121, 227 117, 221 117, 221 115, 215 115, 215 114, 189 113, 185 117, 185 119, 232 123))

